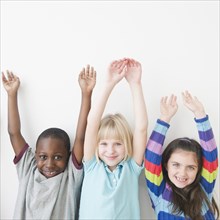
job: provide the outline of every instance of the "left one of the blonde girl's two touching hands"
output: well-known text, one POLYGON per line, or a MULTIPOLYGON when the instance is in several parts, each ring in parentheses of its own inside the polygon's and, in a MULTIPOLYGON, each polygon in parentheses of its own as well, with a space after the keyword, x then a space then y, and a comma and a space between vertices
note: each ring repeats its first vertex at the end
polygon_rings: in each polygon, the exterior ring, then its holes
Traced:
POLYGON ((107 82, 117 84, 126 73, 127 60, 115 60, 108 67, 107 82))

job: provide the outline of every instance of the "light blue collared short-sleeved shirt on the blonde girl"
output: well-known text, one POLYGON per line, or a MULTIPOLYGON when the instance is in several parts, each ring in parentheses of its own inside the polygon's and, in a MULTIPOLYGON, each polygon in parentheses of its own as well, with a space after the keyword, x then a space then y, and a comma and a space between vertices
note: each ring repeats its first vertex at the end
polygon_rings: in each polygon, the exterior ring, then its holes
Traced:
POLYGON ((112 172, 95 157, 83 165, 79 219, 140 219, 138 181, 143 166, 128 159, 112 172))

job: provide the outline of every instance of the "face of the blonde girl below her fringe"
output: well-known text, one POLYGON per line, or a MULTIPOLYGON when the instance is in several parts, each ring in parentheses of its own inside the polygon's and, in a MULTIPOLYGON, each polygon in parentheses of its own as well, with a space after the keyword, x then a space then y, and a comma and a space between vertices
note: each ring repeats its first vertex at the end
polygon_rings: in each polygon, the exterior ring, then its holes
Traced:
POLYGON ((125 146, 117 139, 102 139, 98 143, 98 156, 113 171, 125 158, 125 146))

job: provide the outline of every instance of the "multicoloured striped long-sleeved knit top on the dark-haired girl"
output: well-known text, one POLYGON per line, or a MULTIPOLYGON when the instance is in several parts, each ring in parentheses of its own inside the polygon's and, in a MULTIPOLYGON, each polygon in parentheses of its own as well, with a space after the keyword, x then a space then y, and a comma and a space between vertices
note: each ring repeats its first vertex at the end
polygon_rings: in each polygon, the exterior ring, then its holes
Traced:
MULTIPOLYGON (((211 201, 218 169, 217 147, 208 116, 202 119, 195 119, 195 122, 203 152, 200 184, 211 201)), ((146 185, 157 219, 183 220, 186 219, 184 214, 175 215, 172 213, 172 190, 165 182, 162 173, 162 148, 169 126, 166 122, 158 119, 147 143, 145 151, 146 185)), ((202 216, 206 220, 215 219, 205 203, 203 203, 202 207, 202 216)))

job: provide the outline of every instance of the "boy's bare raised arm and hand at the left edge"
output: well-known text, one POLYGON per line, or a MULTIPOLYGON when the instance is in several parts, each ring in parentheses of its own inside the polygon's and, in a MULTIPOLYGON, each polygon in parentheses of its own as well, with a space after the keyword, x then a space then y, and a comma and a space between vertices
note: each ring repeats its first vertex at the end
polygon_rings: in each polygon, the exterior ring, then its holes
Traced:
POLYGON ((3 86, 8 94, 8 133, 15 155, 18 156, 26 144, 21 134, 21 123, 18 111, 17 93, 20 86, 19 78, 12 72, 2 72, 3 86))

